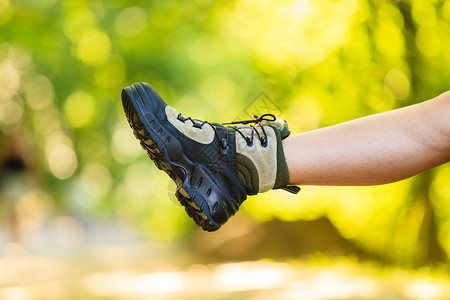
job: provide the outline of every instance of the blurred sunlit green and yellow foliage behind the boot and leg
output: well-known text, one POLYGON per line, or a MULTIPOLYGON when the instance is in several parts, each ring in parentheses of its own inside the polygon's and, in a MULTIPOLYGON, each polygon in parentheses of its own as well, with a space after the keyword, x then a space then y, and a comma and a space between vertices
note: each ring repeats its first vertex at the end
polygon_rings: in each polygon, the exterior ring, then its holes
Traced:
MULTIPOLYGON (((174 240, 192 222, 134 140, 121 88, 149 82, 186 115, 219 122, 265 92, 296 133, 448 90, 448 32, 444 0, 0 0, 0 138, 23 140, 42 203, 174 240)), ((369 251, 421 263, 437 257, 427 247, 450 253, 449 170, 274 191, 244 210, 260 221, 327 216, 369 251)))

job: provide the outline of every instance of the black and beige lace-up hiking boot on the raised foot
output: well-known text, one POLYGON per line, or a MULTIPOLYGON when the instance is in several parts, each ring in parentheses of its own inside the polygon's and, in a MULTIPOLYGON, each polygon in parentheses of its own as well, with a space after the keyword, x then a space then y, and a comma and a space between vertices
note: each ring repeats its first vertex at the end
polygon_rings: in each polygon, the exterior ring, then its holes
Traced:
POLYGON ((124 88, 122 104, 142 148, 175 181, 179 202, 206 231, 219 229, 247 195, 300 190, 287 186, 281 142, 287 123, 272 114, 222 125, 200 121, 168 106, 147 83, 124 88))

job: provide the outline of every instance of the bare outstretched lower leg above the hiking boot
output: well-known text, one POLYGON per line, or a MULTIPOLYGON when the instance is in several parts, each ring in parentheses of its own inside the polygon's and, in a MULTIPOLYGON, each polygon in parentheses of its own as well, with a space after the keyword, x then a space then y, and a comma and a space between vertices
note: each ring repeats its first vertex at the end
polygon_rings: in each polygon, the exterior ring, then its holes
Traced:
POLYGON ((283 141, 291 185, 402 180, 450 160, 450 91, 283 141))

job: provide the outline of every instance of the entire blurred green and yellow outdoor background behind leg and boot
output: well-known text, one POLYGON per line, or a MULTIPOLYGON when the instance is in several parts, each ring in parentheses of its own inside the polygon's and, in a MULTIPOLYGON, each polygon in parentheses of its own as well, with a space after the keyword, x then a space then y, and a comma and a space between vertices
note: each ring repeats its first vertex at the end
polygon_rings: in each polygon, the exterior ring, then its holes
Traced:
POLYGON ((286 298, 448 299, 448 164, 384 186, 271 191, 204 233, 134 139, 120 92, 145 81, 186 116, 270 110, 299 133, 449 90, 449 33, 447 0, 0 0, 0 299, 278 299, 299 282, 286 298), (159 284, 220 264, 237 289, 159 284), (156 277, 139 285, 123 268, 156 277), (331 286, 349 293, 314 294, 308 274, 331 269, 372 289, 345 277, 331 286), (261 270, 282 284, 239 288, 261 270))

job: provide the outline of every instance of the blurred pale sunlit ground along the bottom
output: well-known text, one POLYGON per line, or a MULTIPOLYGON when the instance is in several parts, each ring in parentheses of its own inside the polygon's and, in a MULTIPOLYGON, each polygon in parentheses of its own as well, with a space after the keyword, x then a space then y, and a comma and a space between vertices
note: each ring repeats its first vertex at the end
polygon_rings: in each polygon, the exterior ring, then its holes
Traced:
MULTIPOLYGON (((70 233, 67 228, 60 229, 70 233)), ((48 232, 55 234, 57 230, 48 232)), ((114 224, 97 227, 84 245, 71 244, 70 235, 65 240, 61 236, 48 238, 52 242, 47 247, 41 245, 33 250, 18 243, 4 243, 0 258, 1 300, 450 296, 450 276, 439 269, 408 271, 319 252, 279 261, 203 263, 204 259, 193 256, 190 249, 144 243, 114 224), (114 232, 115 238, 108 238, 114 232)))

